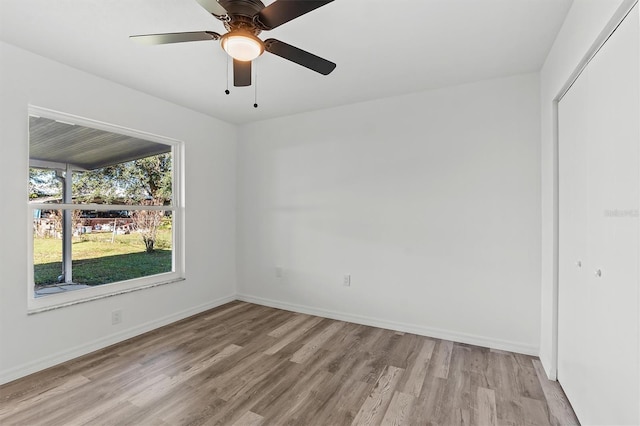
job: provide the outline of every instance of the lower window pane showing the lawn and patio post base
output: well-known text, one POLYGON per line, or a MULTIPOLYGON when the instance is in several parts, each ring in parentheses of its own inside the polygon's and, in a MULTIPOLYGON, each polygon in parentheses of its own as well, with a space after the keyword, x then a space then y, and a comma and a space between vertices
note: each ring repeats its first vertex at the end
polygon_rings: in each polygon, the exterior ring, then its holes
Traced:
POLYGON ((70 211, 71 277, 64 274, 62 211, 34 218, 36 295, 78 290, 173 270, 171 212, 70 211))

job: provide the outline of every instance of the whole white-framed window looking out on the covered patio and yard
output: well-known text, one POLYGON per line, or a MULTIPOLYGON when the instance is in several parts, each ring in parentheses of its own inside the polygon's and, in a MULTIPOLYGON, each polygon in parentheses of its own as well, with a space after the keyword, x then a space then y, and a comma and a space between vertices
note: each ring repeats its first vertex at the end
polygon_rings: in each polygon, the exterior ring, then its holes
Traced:
POLYGON ((181 149, 30 107, 30 311, 183 278, 181 149))

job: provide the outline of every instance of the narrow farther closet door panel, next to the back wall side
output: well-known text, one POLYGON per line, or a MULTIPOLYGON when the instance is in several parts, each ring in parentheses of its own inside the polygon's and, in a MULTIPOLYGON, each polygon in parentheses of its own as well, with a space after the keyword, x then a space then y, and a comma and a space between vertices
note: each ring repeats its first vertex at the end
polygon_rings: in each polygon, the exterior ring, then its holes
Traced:
POLYGON ((558 105, 558 379, 578 407, 588 377, 587 238, 588 84, 583 74, 558 105), (585 125, 586 124, 586 125, 585 125))

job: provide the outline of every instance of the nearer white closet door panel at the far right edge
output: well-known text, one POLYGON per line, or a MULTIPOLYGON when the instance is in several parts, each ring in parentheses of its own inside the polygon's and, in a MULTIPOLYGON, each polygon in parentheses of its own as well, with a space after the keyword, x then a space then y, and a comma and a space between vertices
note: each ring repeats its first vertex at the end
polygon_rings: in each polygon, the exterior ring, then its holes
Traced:
POLYGON ((639 37, 635 10, 588 66, 588 287, 595 344, 587 368, 596 391, 589 393, 587 423, 640 422, 639 37))

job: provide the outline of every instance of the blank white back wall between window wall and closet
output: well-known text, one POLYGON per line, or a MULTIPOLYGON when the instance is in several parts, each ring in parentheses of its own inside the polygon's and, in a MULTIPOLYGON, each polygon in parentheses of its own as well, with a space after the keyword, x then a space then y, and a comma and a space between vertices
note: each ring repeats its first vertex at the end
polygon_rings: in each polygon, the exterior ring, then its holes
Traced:
POLYGON ((244 126, 240 297, 537 354, 539 108, 528 74, 244 126))

